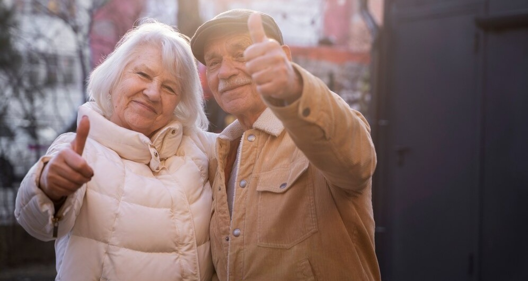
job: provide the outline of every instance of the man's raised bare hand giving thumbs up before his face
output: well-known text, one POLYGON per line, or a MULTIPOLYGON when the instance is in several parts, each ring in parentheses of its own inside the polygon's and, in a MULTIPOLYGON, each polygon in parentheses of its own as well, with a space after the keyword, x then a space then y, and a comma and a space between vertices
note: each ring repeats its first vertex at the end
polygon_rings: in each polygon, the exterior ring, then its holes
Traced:
POLYGON ((253 44, 246 49, 244 57, 257 91, 263 98, 288 103, 298 99, 303 90, 300 74, 291 65, 279 42, 266 36, 260 14, 249 16, 248 29, 253 44))

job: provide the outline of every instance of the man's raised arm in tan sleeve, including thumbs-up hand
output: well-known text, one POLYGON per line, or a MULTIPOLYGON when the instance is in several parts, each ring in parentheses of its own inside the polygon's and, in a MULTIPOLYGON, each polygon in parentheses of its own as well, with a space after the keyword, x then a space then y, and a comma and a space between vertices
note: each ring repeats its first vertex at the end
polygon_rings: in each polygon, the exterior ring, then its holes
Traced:
POLYGON ((333 185, 361 191, 374 172, 376 156, 369 124, 361 113, 300 66, 287 46, 266 37, 260 15, 248 29, 253 44, 244 52, 257 91, 306 157, 333 185))

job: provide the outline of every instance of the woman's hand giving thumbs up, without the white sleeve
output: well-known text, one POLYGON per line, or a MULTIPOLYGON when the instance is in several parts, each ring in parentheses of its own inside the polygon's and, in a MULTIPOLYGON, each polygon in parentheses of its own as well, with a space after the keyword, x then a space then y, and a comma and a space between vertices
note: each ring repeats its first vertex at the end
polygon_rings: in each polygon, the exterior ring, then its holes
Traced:
POLYGON ((52 200, 69 196, 93 177, 93 170, 81 157, 90 131, 88 117, 82 117, 70 146, 55 154, 42 170, 40 189, 52 200))

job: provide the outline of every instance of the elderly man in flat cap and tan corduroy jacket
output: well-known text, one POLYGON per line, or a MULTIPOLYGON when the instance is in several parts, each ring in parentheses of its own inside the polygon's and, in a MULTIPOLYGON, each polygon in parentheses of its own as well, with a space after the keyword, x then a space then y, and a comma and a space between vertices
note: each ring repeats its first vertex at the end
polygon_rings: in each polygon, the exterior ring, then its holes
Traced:
POLYGON ((291 62, 269 15, 219 14, 191 47, 214 98, 237 117, 210 165, 218 278, 380 280, 363 116, 291 62))

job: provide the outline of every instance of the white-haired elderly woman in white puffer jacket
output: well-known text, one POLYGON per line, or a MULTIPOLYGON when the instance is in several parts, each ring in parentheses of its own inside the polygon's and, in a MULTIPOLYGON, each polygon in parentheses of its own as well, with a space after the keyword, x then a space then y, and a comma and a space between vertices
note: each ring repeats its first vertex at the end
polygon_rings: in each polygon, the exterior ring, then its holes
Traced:
POLYGON ((56 280, 210 280, 211 186, 201 84, 171 27, 129 31, 90 75, 77 134, 24 178, 15 216, 55 239, 56 280))

